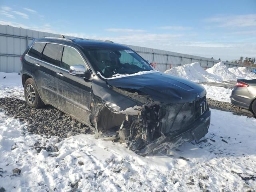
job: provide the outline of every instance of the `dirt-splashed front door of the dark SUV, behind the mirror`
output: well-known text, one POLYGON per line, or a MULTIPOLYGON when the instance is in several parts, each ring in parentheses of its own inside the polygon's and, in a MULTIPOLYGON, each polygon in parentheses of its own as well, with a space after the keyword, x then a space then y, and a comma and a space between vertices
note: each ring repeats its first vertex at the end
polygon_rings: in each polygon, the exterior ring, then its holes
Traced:
POLYGON ((84 65, 87 68, 85 60, 77 49, 64 46, 61 68, 57 71, 61 75, 56 76, 58 101, 64 111, 90 125, 92 83, 84 77, 70 75, 69 68, 73 65, 84 65))

